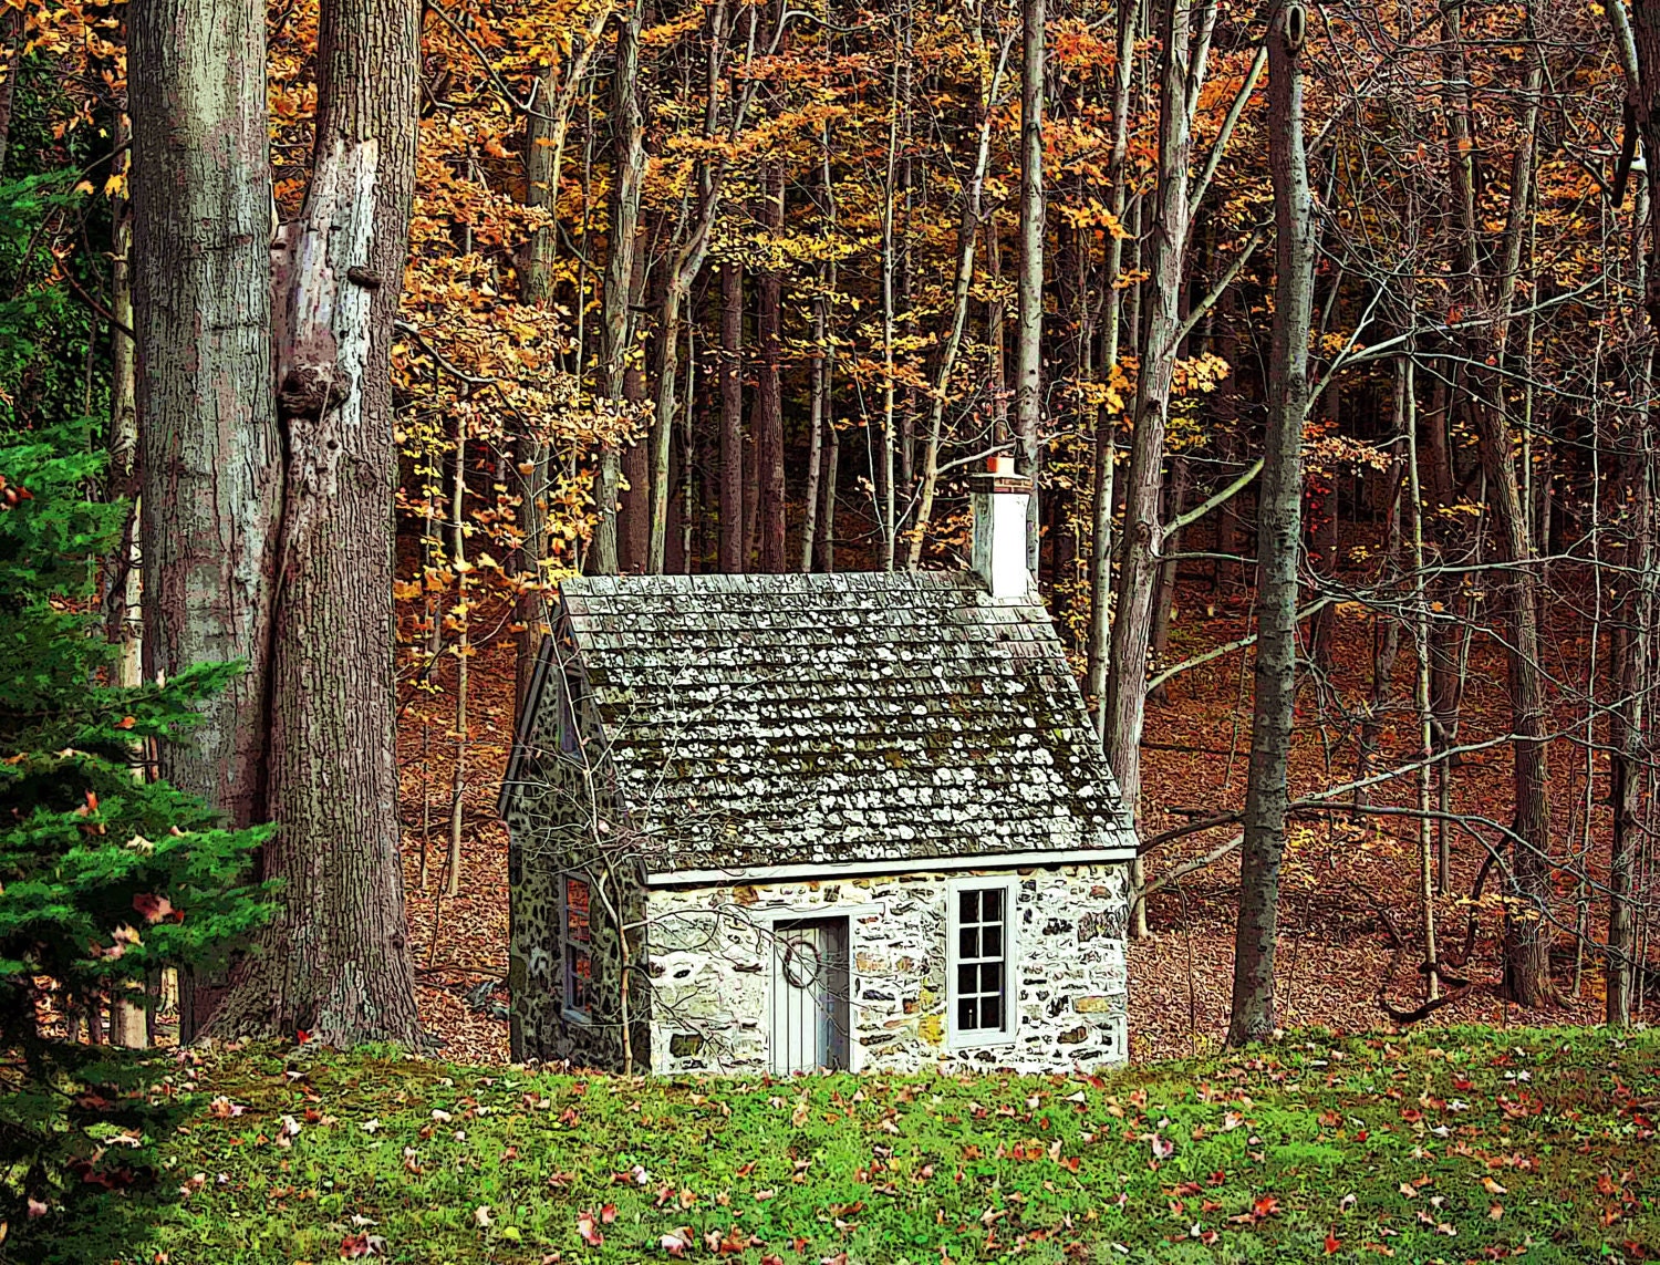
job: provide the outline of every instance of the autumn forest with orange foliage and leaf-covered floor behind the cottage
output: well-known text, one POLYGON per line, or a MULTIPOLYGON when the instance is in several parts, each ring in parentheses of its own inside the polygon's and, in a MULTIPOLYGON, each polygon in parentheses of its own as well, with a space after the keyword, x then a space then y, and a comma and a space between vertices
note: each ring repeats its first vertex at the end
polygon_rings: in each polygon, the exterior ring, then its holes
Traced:
POLYGON ((3 442, 108 520, 48 596, 111 687, 239 662, 128 754, 279 823, 169 1031, 500 1057, 559 578, 961 566, 996 455, 1144 1054, 1652 1004, 1653 5, 0 13, 3 442))

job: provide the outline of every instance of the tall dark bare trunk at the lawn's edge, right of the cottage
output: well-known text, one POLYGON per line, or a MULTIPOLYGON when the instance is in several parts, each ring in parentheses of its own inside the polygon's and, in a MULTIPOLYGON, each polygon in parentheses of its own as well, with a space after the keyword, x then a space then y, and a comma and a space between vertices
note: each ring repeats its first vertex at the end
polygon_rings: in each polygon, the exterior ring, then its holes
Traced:
POLYGON ((1240 848, 1240 916, 1233 941, 1228 1044, 1273 1034, 1273 960, 1285 850, 1286 757, 1296 692, 1296 553, 1301 535, 1300 448, 1308 410, 1308 327, 1313 317, 1315 217, 1303 148, 1301 48, 1306 13, 1277 5, 1268 30, 1268 166, 1273 176, 1278 276, 1268 362, 1268 433, 1262 470, 1257 564, 1262 591, 1250 785, 1240 848))

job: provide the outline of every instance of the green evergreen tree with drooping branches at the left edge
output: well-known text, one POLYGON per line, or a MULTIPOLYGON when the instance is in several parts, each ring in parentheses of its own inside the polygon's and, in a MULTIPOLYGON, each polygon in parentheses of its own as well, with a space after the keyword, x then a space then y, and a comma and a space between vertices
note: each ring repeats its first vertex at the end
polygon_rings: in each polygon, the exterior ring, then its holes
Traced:
POLYGON ((0 1222, 17 1227, 96 1182, 70 1096, 96 1051, 50 1039, 75 1003, 144 996, 163 966, 211 961, 266 918, 249 878, 261 830, 226 830, 149 775, 159 740, 188 740, 198 704, 236 664, 163 684, 115 684, 100 636, 101 559, 129 506, 100 500, 95 423, 63 402, 25 407, 81 340, 73 309, 30 259, 56 184, 0 184, 0 1222), (66 1079, 68 1077, 68 1079, 66 1079), (66 1149, 68 1147, 68 1149, 66 1149), (25 1209, 27 1205, 27 1209, 25 1209))

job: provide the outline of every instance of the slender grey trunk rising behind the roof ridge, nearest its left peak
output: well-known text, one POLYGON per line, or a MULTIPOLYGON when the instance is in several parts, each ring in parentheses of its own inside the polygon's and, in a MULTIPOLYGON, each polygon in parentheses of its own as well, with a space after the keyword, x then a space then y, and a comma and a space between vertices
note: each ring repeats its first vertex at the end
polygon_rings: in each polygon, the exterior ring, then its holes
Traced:
MULTIPOLYGON (((639 25, 641 5, 626 10, 618 22, 616 66, 611 80, 611 224, 606 247, 606 362, 604 393, 613 408, 627 402, 627 365, 632 350, 634 322, 629 299, 634 289, 636 236, 639 232, 639 199, 646 183, 646 121, 641 115, 639 25)), ((588 568, 594 574, 613 576, 621 563, 618 548, 618 485, 622 475, 622 452, 618 440, 599 447, 599 471, 594 476, 594 503, 599 520, 588 568)))

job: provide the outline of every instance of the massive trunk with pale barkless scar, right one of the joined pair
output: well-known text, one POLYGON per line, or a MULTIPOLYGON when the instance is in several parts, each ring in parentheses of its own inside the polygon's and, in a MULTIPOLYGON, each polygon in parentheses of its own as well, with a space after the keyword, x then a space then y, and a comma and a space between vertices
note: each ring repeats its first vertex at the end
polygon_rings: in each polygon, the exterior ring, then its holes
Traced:
POLYGON ((418 32, 413 0, 324 0, 319 15, 312 181, 276 269, 287 480, 269 807, 281 828, 264 873, 282 886, 214 1019, 224 1036, 420 1038, 398 850, 390 377, 418 32))

